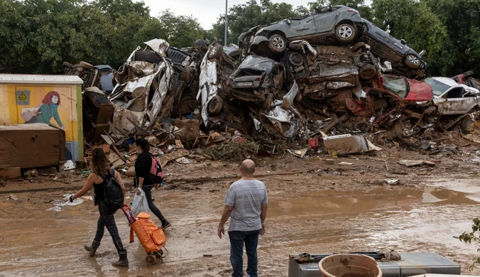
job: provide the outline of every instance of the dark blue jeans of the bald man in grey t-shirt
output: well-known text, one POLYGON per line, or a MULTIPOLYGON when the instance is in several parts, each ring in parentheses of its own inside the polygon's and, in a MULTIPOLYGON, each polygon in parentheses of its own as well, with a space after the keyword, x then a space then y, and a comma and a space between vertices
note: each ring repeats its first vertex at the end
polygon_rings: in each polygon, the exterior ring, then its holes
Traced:
POLYGON ((232 277, 244 276, 244 243, 247 257, 246 273, 250 277, 258 277, 258 258, 256 256, 258 234, 260 234, 260 230, 229 232, 230 263, 234 269, 231 273, 232 277))

